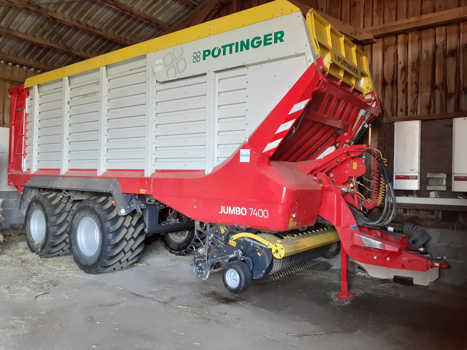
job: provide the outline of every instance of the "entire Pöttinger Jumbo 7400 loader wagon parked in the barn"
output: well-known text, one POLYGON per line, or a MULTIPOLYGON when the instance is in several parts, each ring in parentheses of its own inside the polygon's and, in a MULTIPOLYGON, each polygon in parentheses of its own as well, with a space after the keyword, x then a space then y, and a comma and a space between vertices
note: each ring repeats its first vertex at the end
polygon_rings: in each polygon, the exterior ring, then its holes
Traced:
POLYGON ((426 232, 391 224, 384 161, 354 144, 379 113, 367 58, 314 11, 277 0, 10 92, 9 183, 43 257, 71 250, 85 272, 113 271, 161 234, 170 252, 194 252, 199 276, 223 269, 241 293, 341 249, 343 298, 347 254, 448 267, 417 252, 426 232), (362 154, 374 159, 369 200, 362 154))

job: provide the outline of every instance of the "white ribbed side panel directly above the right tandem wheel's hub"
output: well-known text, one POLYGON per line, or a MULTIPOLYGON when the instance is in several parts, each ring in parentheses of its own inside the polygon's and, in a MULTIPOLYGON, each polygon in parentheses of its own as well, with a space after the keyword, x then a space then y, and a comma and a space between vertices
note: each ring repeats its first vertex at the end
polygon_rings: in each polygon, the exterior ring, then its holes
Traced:
POLYGON ((99 126, 99 70, 70 77, 70 169, 96 169, 99 126))

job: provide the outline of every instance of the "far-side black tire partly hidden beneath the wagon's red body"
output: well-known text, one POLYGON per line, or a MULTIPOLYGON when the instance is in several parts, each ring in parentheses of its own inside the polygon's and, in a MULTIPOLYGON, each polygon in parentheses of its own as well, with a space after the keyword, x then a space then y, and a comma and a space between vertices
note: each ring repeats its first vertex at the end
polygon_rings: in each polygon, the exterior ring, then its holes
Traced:
POLYGON ((193 228, 191 230, 165 233, 161 236, 161 240, 165 249, 170 253, 175 255, 187 255, 194 253, 195 249, 204 243, 201 242, 201 239, 205 237, 205 233, 195 231, 193 228))

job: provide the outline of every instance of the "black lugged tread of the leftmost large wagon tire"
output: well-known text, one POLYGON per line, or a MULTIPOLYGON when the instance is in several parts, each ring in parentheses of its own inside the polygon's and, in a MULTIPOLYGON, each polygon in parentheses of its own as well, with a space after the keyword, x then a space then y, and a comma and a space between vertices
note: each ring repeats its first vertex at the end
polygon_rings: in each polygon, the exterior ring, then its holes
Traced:
POLYGON ((70 226, 73 210, 79 202, 72 201, 70 197, 62 196, 57 192, 46 192, 35 197, 40 200, 49 217, 49 236, 40 252, 42 258, 63 256, 70 253, 70 226))

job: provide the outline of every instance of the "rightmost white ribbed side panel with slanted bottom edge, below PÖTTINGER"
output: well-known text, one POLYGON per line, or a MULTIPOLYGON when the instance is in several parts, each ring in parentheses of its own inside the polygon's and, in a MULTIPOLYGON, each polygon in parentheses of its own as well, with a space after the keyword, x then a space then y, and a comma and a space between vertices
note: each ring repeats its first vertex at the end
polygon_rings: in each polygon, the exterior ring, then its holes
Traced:
POLYGON ((215 165, 225 161, 248 135, 247 67, 217 73, 215 165))

